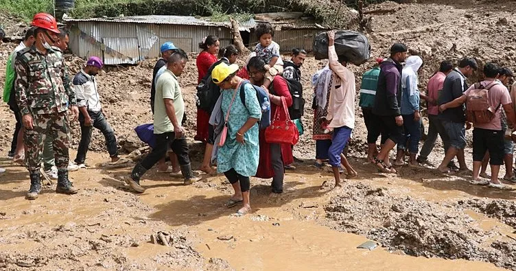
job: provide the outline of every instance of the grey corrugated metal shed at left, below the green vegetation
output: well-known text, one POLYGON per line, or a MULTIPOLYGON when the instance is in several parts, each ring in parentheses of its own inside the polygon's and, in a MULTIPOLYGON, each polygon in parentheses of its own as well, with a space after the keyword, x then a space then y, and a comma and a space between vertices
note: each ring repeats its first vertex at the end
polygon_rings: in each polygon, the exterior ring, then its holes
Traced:
POLYGON ((135 64, 159 57, 159 47, 172 41, 187 52, 198 52, 198 43, 208 35, 218 36, 220 46, 233 43, 229 23, 216 23, 193 16, 128 16, 65 19, 70 28, 69 47, 81 58, 99 56, 105 64, 135 64))

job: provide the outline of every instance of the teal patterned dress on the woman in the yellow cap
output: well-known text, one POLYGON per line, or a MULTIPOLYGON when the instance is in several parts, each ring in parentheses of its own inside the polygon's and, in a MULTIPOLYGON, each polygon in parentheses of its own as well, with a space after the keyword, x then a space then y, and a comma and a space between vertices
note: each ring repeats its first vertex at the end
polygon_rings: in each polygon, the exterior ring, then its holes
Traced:
MULTIPOLYGON (((229 112, 226 142, 218 150, 217 171, 223 173, 235 169, 242 176, 255 176, 259 160, 258 123, 255 123, 244 134, 244 144, 237 142, 237 131, 244 126, 249 117, 260 119, 261 108, 253 86, 245 84, 243 91, 246 95, 246 104, 242 104, 242 99, 237 93, 229 112)), ((224 119, 229 104, 231 104, 233 93, 235 93, 234 89, 222 90, 222 114, 224 119)))

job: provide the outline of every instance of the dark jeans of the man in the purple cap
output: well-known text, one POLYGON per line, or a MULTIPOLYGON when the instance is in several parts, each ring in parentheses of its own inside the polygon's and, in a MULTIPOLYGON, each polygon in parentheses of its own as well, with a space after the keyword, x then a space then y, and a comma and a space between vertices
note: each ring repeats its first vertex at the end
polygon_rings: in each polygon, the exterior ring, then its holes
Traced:
POLYGON ((86 161, 86 152, 91 142, 91 132, 93 128, 97 128, 104 134, 106 139, 106 146, 108 148, 109 155, 115 157, 118 155, 117 139, 115 139, 115 131, 109 125, 108 121, 104 117, 102 111, 93 112, 88 111, 88 115, 93 121, 93 126, 84 126, 84 115, 80 113, 79 123, 81 126, 81 141, 79 143, 79 149, 77 150, 77 156, 75 157, 75 163, 82 164, 86 161))

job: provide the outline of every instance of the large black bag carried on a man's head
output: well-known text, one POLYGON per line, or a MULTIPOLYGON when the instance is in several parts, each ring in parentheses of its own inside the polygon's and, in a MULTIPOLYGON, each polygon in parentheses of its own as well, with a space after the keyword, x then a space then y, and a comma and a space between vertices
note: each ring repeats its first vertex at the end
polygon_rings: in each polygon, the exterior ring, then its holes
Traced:
MULTIPOLYGON (((364 64, 371 55, 371 45, 366 36, 351 30, 335 32, 335 50, 338 56, 345 56, 349 62, 364 64)), ((316 60, 328 58, 328 34, 322 32, 314 39, 314 56, 316 60)))

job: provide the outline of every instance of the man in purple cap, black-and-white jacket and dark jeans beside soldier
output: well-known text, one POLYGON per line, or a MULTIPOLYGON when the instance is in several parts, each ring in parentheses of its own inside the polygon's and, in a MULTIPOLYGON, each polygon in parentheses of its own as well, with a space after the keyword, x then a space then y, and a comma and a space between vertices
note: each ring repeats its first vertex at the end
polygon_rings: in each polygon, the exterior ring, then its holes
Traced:
POLYGON ((106 139, 106 147, 108 148, 111 164, 123 163, 118 156, 117 139, 115 139, 115 131, 109 125, 100 104, 100 95, 97 91, 97 81, 95 76, 102 71, 104 63, 100 58, 92 56, 86 62, 86 67, 81 69, 73 78, 73 88, 77 97, 77 106, 79 107, 79 123, 81 126, 81 139, 75 164, 79 168, 86 168, 86 152, 91 141, 91 133, 93 128, 97 128, 104 134, 106 139))

